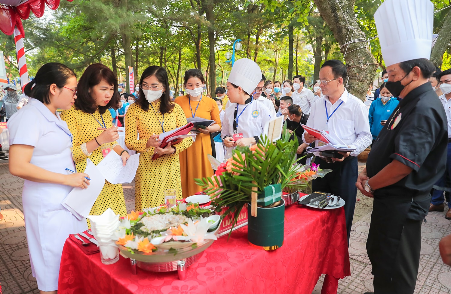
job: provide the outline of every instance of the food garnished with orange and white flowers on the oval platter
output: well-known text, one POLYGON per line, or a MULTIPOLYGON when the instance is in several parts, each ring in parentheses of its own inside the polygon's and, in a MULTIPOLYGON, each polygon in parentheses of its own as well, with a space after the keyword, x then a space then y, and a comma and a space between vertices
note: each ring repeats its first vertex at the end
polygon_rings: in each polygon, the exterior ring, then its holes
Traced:
POLYGON ((152 255, 160 247, 176 253, 173 247, 195 248, 206 239, 216 240, 216 235, 208 232, 212 227, 207 219, 210 214, 209 209, 199 204, 183 202, 171 208, 161 206, 139 213, 132 211, 121 218, 113 239, 130 253, 152 255), (179 242, 181 246, 174 246, 172 242, 179 242))

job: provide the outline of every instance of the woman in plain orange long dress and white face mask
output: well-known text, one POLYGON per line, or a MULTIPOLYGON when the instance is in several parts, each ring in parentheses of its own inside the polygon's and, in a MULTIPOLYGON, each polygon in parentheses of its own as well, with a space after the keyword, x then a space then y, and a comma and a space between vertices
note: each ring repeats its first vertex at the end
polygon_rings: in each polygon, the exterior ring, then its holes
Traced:
POLYGON ((202 191, 194 179, 213 176, 213 168, 208 160, 208 154, 213 154, 214 141, 212 133, 221 131, 221 119, 216 101, 202 95, 205 80, 198 69, 189 69, 185 72, 184 88, 187 95, 179 96, 175 103, 183 109, 186 118, 203 118, 214 120, 209 127, 197 128, 196 140, 193 145, 180 153, 180 172, 182 179, 182 193, 184 197, 202 191))

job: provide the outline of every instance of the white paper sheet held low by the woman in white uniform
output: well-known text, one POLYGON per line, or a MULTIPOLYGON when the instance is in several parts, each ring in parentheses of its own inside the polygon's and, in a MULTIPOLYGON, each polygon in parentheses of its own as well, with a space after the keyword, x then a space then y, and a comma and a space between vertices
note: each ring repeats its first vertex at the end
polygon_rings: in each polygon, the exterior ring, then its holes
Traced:
POLYGON ((61 205, 79 220, 82 220, 83 217, 89 215, 92 205, 96 202, 103 185, 105 185, 105 177, 89 158, 87 158, 86 169, 84 172, 87 173, 91 179, 87 189, 74 188, 61 202, 61 205))

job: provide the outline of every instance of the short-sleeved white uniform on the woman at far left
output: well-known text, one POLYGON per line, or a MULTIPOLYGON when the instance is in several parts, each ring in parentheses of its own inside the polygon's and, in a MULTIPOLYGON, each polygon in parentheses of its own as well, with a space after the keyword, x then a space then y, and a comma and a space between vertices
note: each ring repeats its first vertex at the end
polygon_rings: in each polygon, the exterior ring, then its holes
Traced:
MULTIPOLYGON (((28 104, 9 119, 9 145, 33 146, 30 163, 51 172, 66 174, 75 170, 72 140, 66 122, 55 116, 40 101, 28 104)), ((87 229, 61 205, 72 187, 25 180, 22 202, 32 274, 41 291, 58 289, 61 253, 69 234, 87 229)))

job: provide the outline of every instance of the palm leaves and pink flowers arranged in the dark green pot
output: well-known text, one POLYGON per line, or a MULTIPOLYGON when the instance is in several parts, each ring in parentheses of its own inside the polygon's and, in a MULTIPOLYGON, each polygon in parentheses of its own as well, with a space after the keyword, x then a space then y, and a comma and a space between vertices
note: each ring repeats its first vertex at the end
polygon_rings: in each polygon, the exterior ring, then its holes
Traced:
POLYGON ((261 136, 258 144, 237 147, 212 177, 196 179, 196 183, 210 195, 216 211, 227 207, 225 214, 235 213, 235 225, 241 208, 251 202, 252 192, 261 194, 275 184, 284 189, 300 176, 294 168, 297 148, 298 141, 291 140, 284 127, 281 139, 272 142, 261 136))

